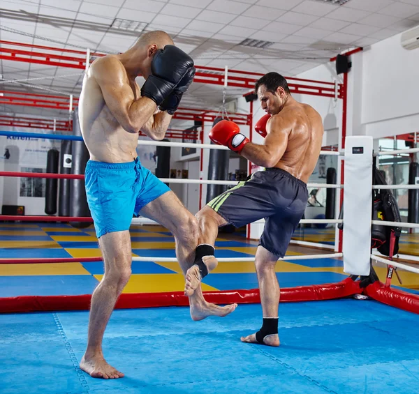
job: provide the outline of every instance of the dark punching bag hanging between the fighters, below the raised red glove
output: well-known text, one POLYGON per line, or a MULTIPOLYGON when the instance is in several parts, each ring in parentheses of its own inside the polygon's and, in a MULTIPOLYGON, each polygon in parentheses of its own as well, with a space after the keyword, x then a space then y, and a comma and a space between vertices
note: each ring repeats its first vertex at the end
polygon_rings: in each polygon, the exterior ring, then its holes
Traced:
MULTIPOLYGON (((216 118, 216 123, 222 121, 222 118, 216 118)), ((214 144, 214 142, 211 142, 214 144)), ((230 151, 222 151, 221 149, 210 149, 210 162, 208 163, 208 179, 213 181, 227 181, 228 180, 228 162, 230 160, 230 151)), ((208 185, 207 186, 207 202, 210 202, 215 197, 227 190, 227 185, 208 185)))

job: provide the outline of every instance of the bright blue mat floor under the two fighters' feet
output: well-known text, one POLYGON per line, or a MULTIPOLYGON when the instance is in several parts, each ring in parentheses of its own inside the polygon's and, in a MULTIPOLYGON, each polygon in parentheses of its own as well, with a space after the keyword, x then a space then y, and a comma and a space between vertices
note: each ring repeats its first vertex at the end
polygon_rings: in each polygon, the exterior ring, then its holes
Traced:
POLYGON ((354 299, 284 303, 281 346, 244 344, 259 304, 192 321, 189 308, 115 310, 107 361, 122 379, 78 368, 89 313, 0 315, 2 394, 418 393, 419 315, 354 299))

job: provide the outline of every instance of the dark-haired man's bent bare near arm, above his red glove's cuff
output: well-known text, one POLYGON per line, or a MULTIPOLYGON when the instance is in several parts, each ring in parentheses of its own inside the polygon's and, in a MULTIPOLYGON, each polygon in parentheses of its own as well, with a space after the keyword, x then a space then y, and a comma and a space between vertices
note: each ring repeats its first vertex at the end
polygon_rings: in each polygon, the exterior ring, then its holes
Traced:
POLYGON ((267 136, 263 144, 249 142, 244 146, 241 155, 261 167, 274 167, 286 151, 291 127, 287 116, 281 114, 272 116, 267 122, 267 136))

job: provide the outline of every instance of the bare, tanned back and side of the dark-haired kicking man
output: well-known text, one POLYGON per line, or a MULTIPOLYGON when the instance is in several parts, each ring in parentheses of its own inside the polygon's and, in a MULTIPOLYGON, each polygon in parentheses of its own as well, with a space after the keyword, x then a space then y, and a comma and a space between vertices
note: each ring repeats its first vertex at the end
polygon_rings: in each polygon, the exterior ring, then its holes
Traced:
POLYGON ((280 114, 288 117, 293 126, 288 135, 286 151, 274 167, 284 169, 307 183, 321 151, 323 121, 313 107, 297 102, 283 109, 280 114))

